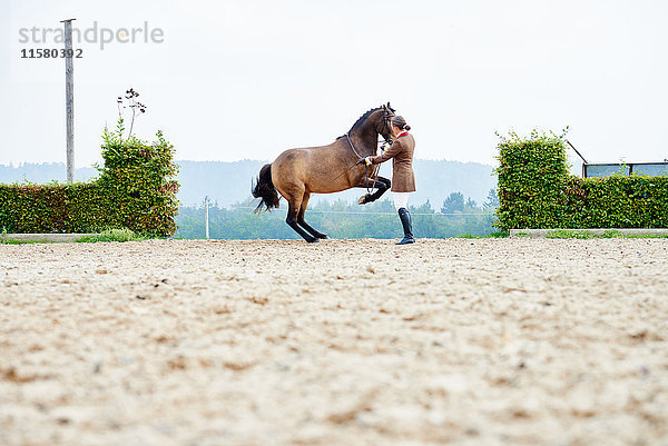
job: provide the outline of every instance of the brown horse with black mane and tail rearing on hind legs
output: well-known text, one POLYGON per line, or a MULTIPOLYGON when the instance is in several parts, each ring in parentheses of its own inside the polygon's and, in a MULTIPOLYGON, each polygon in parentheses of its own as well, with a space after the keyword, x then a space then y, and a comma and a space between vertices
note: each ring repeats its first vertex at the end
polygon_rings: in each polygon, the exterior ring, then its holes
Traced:
POLYGON ((354 187, 376 188, 374 194, 360 198, 360 205, 377 200, 390 180, 376 175, 377 166, 366 167, 364 158, 376 155, 379 135, 392 138, 390 120, 394 109, 386 106, 362 115, 347 133, 327 146, 285 150, 271 165, 259 170, 253 197, 261 198, 256 212, 278 207, 278 194, 287 200, 289 225, 308 242, 327 238, 304 221, 311 194, 332 194, 354 187))

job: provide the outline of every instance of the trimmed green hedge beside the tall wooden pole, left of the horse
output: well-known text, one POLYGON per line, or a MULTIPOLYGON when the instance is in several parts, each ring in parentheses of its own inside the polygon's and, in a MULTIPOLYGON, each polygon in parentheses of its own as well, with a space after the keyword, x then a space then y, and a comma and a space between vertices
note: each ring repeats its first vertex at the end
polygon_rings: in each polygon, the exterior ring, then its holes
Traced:
POLYGON ((151 143, 120 135, 105 130, 105 165, 90 182, 0 185, 0 229, 48 234, 128 228, 173 235, 178 212, 174 147, 161 132, 151 143))

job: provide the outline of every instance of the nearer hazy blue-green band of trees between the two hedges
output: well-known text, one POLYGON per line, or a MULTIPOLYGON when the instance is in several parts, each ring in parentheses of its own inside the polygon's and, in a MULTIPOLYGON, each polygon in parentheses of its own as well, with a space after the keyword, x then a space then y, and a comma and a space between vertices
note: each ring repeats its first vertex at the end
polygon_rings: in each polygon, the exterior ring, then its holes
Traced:
MULTIPOLYGON (((451 194, 440 209, 428 200, 410 206, 413 230, 419 238, 448 238, 456 236, 487 236, 497 231, 492 226, 495 194, 490 191, 483 206, 472 199, 464 200, 461 192, 451 194)), ((214 239, 299 239, 285 224, 286 208, 272 212, 253 212, 248 199, 229 208, 209 205, 209 237, 214 239)), ((402 228, 394 206, 389 199, 358 206, 340 199, 321 201, 306 211, 306 221, 332 238, 397 238, 402 228)), ((175 237, 205 237, 205 206, 180 207, 176 217, 175 237)))

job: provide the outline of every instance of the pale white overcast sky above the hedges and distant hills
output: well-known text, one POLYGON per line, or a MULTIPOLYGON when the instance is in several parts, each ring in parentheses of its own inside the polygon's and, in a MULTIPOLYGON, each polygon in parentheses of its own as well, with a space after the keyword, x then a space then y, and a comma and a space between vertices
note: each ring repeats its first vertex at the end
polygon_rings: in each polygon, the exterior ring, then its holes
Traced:
POLYGON ((591 161, 668 158, 664 0, 0 4, 0 163, 65 161, 65 61, 21 50, 62 48, 40 32, 69 18, 97 38, 76 44, 78 167, 99 161, 129 87, 148 106, 138 136, 164 130, 177 159, 272 160, 331 142, 387 101, 418 158, 494 163, 494 131, 566 126, 591 161), (21 42, 32 28, 39 41, 21 42), (100 49, 102 28, 161 41, 100 49))

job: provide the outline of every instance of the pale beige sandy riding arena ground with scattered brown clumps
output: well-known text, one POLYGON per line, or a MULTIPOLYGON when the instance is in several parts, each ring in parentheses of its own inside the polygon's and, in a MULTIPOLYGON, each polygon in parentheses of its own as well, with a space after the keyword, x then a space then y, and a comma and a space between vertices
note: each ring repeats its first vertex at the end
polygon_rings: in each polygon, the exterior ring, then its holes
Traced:
POLYGON ((1 445, 668 445, 668 240, 0 245, 1 445))

